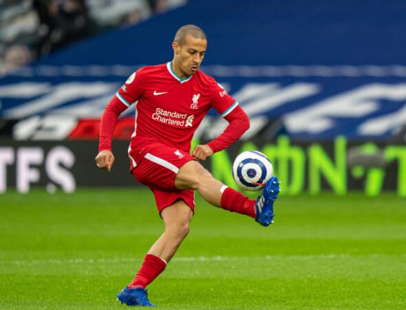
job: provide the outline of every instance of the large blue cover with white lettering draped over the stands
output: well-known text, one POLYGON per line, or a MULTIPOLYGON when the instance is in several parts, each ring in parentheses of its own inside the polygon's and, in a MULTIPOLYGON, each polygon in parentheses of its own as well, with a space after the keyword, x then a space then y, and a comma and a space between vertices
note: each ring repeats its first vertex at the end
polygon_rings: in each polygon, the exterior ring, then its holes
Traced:
MULTIPOLYGON (((402 1, 191 1, 1 78, 0 117, 14 121, 3 134, 66 138, 81 118, 100 118, 134 70, 170 61, 175 31, 196 23, 209 39, 202 70, 250 115, 246 138, 385 140, 406 120, 405 13, 402 1)), ((210 123, 206 138, 224 127, 214 112, 210 123)))

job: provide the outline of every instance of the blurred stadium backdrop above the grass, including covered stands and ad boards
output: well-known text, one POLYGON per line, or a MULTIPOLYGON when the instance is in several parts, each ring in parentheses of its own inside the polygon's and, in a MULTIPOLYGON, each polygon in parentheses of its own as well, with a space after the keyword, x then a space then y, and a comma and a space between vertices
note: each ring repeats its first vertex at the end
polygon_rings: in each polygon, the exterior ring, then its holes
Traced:
MULTIPOLYGON (((209 37, 202 70, 252 123, 228 159, 207 163, 218 177, 231 181, 224 161, 255 147, 286 194, 406 196, 403 3, 254 2, 1 1, 0 192, 133 186, 120 177, 133 110, 118 124, 109 180, 93 165, 100 115, 131 72, 171 59, 180 25, 197 23, 209 37)), ((224 125, 211 113, 196 141, 224 125)))

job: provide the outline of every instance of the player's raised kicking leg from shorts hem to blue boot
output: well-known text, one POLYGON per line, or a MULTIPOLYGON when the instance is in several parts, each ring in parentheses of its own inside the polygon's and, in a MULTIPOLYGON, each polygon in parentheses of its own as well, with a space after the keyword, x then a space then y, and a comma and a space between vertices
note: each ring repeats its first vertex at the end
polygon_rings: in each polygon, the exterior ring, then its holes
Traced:
POLYGON ((197 161, 189 161, 180 167, 175 178, 175 187, 194 189, 211 205, 255 218, 263 226, 268 226, 273 221, 273 202, 280 191, 279 181, 273 177, 257 200, 251 200, 216 180, 197 161))

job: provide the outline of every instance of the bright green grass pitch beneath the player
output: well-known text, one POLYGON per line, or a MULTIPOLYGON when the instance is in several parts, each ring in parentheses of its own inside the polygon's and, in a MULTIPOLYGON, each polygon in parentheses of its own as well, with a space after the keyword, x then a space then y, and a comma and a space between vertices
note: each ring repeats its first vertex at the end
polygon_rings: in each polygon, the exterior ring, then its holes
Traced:
MULTIPOLYGON (((149 286, 160 309, 406 309, 406 200, 281 196, 275 224, 197 197, 149 286)), ((0 195, 0 309, 125 309, 116 293, 162 233, 136 189, 0 195)))

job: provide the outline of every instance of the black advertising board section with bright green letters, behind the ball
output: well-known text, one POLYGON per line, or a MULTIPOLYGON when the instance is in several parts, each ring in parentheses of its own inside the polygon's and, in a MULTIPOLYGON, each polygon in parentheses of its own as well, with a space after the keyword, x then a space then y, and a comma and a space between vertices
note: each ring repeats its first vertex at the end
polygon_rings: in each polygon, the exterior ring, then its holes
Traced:
POLYGON ((406 145, 349 143, 344 137, 317 143, 292 143, 279 136, 273 143, 236 144, 228 152, 211 158, 211 172, 226 184, 233 184, 231 165, 239 152, 256 149, 273 163, 274 174, 283 183, 284 194, 335 194, 365 192, 376 196, 383 191, 406 197, 406 145))

